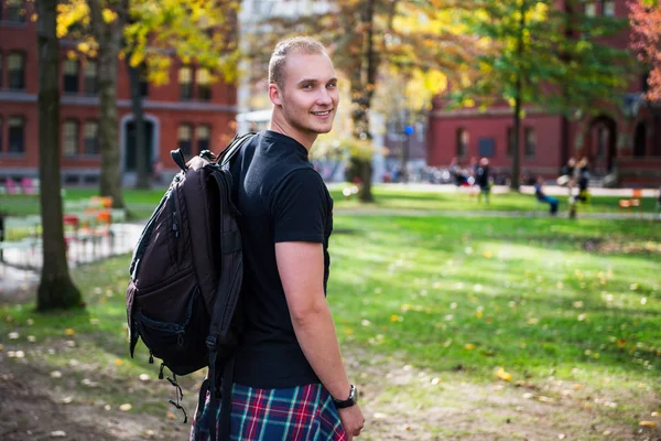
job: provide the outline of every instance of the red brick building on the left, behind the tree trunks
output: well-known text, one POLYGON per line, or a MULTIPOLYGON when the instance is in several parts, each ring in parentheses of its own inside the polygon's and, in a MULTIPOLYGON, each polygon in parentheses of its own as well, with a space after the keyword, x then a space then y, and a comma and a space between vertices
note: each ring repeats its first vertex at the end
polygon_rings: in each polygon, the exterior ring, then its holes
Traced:
MULTIPOLYGON (((0 0, 0 181, 39 174, 37 46, 34 3, 0 0)), ((65 183, 94 183, 99 176, 97 64, 62 41, 61 148, 65 183)), ((117 72, 119 147, 124 183, 136 180, 134 125, 126 64, 117 72)), ((143 84, 150 166, 174 172, 170 150, 219 150, 234 135, 236 87, 208 82, 194 65, 172 63, 170 82, 143 84)))

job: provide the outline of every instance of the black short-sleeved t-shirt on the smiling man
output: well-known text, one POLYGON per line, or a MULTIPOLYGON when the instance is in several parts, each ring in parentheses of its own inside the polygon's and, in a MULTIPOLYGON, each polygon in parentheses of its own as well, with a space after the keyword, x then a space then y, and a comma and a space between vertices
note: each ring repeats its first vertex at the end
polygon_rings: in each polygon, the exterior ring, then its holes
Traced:
POLYGON ((264 389, 319 383, 303 355, 275 262, 275 243, 324 244, 324 291, 333 200, 307 159, 307 149, 273 131, 252 138, 231 166, 234 201, 241 213, 246 331, 235 381, 264 389))

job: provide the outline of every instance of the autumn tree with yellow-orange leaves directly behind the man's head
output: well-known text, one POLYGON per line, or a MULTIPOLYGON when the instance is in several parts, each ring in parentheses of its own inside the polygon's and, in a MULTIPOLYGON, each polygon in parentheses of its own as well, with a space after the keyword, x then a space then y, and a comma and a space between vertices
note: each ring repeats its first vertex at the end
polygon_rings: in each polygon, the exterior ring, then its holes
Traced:
MULTIPOLYGON (((462 3, 469 7, 472 0, 462 3)), ((311 34, 325 42, 335 66, 349 82, 353 136, 370 140, 370 111, 380 75, 388 69, 403 72, 456 72, 457 60, 468 58, 469 36, 460 33, 451 0, 336 0, 323 11, 304 11, 270 18, 254 37, 250 56, 261 64, 253 72, 266 73, 266 60, 278 40, 311 34), (260 57, 261 55, 261 57, 260 57)), ((360 146, 362 143, 356 143, 360 146)), ((351 169, 362 186, 359 198, 373 200, 369 155, 351 155, 351 169)))

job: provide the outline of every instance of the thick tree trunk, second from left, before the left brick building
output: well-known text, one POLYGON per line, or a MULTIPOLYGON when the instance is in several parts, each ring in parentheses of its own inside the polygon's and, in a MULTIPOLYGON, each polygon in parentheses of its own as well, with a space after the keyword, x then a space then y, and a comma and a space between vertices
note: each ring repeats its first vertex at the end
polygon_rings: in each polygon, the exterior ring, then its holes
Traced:
POLYGON ((121 190, 121 163, 117 133, 117 63, 128 1, 117 6, 117 18, 106 23, 101 0, 88 0, 94 36, 98 43, 99 68, 99 150, 101 152, 101 196, 112 197, 115 208, 124 208, 121 190))

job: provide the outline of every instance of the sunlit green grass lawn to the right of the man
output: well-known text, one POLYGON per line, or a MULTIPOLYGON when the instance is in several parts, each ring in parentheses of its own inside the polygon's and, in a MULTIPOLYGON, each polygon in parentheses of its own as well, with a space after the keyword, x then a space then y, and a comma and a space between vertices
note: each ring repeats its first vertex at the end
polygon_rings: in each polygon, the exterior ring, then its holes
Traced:
POLYGON ((344 341, 480 378, 661 368, 653 224, 365 216, 336 229, 329 295, 344 341))

